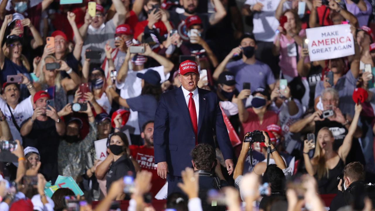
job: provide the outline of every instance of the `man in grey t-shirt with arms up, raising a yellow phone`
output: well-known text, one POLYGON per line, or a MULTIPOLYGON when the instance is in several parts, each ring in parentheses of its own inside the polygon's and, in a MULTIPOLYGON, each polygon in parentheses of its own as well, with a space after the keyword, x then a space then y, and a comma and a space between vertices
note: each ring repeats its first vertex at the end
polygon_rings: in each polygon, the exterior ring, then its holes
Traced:
MULTIPOLYGON (((123 24, 126 9, 121 0, 113 0, 116 14, 107 23, 104 23, 105 14, 102 5, 96 5, 96 15, 91 17, 88 12, 85 15, 85 23, 80 28, 80 34, 84 39, 81 57, 84 58, 86 50, 100 51, 101 59, 92 59, 92 63, 102 63, 105 57, 104 47, 107 41, 114 46, 114 33, 118 25, 123 24)), ((84 60, 82 60, 84 62, 84 60)), ((82 63, 83 65, 83 63, 82 63)))

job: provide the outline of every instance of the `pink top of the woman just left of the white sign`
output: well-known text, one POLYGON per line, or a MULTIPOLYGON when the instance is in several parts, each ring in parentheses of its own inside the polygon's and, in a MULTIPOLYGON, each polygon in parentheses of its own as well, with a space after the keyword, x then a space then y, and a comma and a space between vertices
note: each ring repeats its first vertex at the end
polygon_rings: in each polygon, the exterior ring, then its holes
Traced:
MULTIPOLYGON (((306 36, 305 29, 302 29, 299 33, 300 37, 306 36)), ((275 44, 276 39, 278 39, 278 36, 276 36, 275 41, 273 43, 275 44)), ((301 56, 301 46, 298 45, 298 55, 301 56)), ((297 72, 297 52, 296 52, 296 43, 294 39, 288 39, 286 35, 281 34, 280 35, 280 62, 279 66, 284 75, 287 75, 289 77, 296 77, 298 76, 297 72)), ((305 58, 305 63, 309 63, 310 59, 309 57, 305 58)))

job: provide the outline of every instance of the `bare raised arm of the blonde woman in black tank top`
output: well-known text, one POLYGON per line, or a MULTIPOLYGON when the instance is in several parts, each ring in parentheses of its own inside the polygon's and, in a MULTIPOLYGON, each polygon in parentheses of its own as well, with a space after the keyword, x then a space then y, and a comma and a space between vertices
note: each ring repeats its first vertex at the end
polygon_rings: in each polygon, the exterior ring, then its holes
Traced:
POLYGON ((343 160, 344 162, 347 159, 347 156, 349 154, 349 151, 353 142, 353 135, 357 129, 357 124, 358 124, 359 115, 361 114, 361 111, 362 111, 362 105, 356 104, 356 112, 354 113, 353 121, 351 122, 350 127, 348 129, 348 134, 345 136, 344 142, 342 143, 342 145, 340 146, 338 150, 338 154, 341 160, 343 160))

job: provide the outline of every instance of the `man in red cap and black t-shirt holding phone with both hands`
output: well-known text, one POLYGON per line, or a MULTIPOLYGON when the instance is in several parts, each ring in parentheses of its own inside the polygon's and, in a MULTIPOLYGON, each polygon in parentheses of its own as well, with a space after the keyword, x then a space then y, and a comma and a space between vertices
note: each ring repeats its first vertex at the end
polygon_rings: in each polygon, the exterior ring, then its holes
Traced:
POLYGON ((33 98, 34 113, 31 118, 21 124, 23 146, 33 146, 40 153, 40 173, 46 180, 57 179, 57 149, 60 136, 65 134, 65 123, 57 115, 56 110, 47 105, 50 96, 45 91, 36 92, 33 98))

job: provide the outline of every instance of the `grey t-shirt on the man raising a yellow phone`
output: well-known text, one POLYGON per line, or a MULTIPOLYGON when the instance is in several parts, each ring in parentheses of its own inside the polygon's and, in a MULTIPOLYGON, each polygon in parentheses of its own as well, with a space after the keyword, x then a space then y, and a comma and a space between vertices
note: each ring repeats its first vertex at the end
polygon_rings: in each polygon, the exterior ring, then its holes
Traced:
MULTIPOLYGON (((90 63, 103 63, 105 58, 104 47, 107 41, 110 41, 111 47, 114 47, 114 33, 116 26, 113 23, 113 19, 103 24, 99 29, 94 29, 91 25, 87 29, 86 39, 84 40, 81 58, 85 57, 86 49, 92 51, 100 51, 102 53, 101 59, 92 59, 90 63)), ((84 59, 82 59, 83 65, 84 59)))

